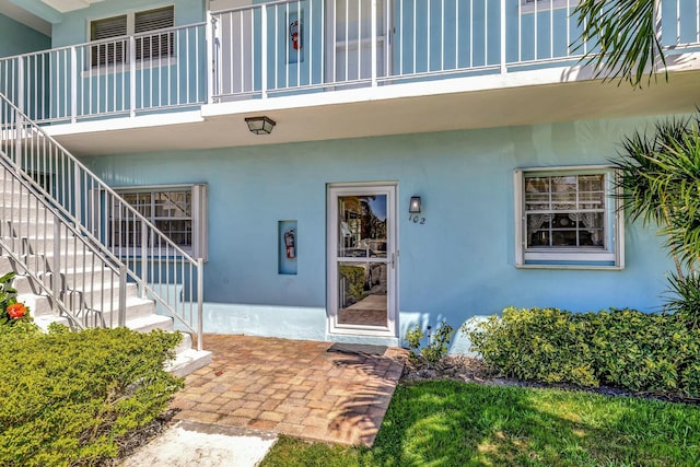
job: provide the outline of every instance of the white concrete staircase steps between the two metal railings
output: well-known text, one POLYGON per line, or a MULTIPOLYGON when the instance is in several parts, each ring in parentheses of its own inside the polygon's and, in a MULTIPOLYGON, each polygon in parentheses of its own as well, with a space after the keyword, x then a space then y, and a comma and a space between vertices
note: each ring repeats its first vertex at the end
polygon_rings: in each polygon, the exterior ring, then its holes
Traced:
MULTIPOLYGON (((39 327, 70 324, 49 296, 49 291, 58 291, 59 300, 84 327, 116 327, 119 304, 126 303, 126 327, 174 331, 173 317, 156 314, 155 302, 142 296, 136 283, 126 283, 120 291, 114 265, 86 247, 92 241, 62 222, 56 225, 57 217, 33 192, 18 190, 18 182, 4 167, 0 167, 0 276, 16 273, 18 300, 30 307, 39 327), (126 300, 119 300, 120 293, 126 300)), ((185 376, 210 362, 211 352, 194 349, 192 337, 183 332, 168 371, 185 376)))

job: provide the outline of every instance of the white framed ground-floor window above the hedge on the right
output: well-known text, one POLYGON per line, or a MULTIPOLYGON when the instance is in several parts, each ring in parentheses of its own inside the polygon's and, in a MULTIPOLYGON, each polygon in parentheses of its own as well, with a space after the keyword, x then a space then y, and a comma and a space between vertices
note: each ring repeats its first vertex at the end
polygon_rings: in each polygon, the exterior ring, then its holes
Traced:
POLYGON ((623 268, 610 167, 518 168, 514 177, 517 267, 623 268))

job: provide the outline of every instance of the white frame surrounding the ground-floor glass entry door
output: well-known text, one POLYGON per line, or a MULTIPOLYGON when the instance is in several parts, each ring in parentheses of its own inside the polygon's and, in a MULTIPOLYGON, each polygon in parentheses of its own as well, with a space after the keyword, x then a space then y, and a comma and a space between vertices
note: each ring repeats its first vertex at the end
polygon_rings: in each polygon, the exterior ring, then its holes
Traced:
POLYGON ((398 337, 398 183, 328 184, 326 187, 326 317, 328 334, 398 337), (386 195, 386 327, 338 324, 338 197, 353 195, 386 195))

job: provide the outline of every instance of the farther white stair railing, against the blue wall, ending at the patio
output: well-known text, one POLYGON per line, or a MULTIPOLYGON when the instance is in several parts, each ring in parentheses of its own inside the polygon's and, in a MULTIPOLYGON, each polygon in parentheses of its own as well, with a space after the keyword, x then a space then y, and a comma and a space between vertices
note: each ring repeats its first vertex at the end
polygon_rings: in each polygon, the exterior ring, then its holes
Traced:
POLYGON ((0 153, 50 200, 61 222, 89 238, 98 257, 119 265, 141 297, 154 300, 195 334, 202 349, 202 258, 176 245, 2 93, 0 153))

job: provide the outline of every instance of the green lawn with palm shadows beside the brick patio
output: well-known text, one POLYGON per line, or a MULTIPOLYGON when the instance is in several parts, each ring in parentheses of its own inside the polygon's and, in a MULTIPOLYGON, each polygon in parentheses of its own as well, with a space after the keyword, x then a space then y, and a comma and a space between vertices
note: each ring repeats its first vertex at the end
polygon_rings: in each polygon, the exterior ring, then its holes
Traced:
POLYGON ((458 382, 398 386, 374 446, 282 437, 262 466, 698 466, 700 406, 458 382))

